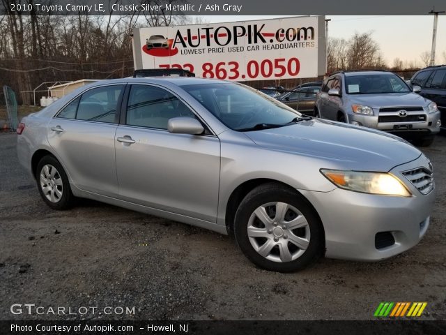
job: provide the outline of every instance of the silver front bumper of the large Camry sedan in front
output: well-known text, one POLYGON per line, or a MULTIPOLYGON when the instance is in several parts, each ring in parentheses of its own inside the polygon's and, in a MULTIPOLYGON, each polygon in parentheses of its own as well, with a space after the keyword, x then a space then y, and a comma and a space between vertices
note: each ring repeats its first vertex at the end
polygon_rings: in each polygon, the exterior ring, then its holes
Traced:
POLYGON ((435 190, 423 195, 404 179, 401 171, 425 167, 425 162, 422 155, 390 171, 410 189, 413 196, 408 198, 357 193, 341 188, 325 193, 299 190, 321 217, 326 257, 383 260, 417 245, 429 227, 435 190), (378 232, 392 234, 394 244, 378 248, 378 232))

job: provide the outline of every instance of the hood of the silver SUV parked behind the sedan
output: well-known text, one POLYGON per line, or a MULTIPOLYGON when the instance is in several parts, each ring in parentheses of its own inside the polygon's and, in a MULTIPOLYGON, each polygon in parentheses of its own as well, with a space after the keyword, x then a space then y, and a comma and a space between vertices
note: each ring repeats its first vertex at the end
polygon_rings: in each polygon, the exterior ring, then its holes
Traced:
POLYGON ((419 94, 389 93, 389 94, 351 94, 348 96, 351 103, 367 105, 372 108, 379 107, 426 107, 430 100, 419 94))

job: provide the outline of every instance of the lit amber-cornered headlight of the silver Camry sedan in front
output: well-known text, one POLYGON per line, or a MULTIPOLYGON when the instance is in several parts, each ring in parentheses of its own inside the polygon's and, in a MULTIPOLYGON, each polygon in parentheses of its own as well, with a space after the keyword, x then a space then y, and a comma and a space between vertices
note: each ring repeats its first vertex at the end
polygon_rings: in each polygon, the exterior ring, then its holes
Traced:
POLYGON ((410 191, 392 174, 383 172, 357 172, 321 169, 322 174, 334 185, 349 191, 380 195, 410 197, 410 191))

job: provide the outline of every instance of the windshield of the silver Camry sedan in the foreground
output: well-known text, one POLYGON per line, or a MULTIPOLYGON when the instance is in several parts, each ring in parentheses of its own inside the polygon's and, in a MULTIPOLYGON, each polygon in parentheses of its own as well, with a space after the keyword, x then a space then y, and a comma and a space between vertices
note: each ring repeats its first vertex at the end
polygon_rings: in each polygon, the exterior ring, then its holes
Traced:
POLYGON ((182 88, 234 131, 277 128, 307 119, 277 100, 242 84, 193 84, 182 88))

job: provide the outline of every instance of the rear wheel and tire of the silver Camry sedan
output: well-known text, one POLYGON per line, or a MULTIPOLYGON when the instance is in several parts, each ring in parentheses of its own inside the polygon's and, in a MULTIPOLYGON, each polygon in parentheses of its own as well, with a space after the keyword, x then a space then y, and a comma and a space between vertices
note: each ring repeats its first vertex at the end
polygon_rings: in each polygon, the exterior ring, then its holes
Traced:
POLYGON ((40 159, 36 168, 36 181, 43 201, 52 209, 64 210, 72 207, 74 195, 61 163, 54 156, 40 159))

